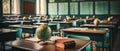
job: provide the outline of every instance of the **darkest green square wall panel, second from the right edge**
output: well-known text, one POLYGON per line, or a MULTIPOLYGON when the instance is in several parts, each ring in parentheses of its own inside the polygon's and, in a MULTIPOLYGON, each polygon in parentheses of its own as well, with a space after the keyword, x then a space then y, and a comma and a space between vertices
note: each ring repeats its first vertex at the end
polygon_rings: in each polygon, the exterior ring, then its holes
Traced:
POLYGON ((95 2, 95 14, 108 14, 108 1, 95 2))

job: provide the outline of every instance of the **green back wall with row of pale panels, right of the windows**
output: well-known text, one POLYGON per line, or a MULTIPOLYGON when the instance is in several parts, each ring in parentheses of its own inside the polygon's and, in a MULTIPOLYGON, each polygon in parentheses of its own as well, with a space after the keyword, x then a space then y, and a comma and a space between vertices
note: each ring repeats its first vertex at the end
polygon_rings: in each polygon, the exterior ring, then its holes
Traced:
POLYGON ((119 17, 119 0, 48 0, 48 15, 76 15, 78 18, 92 17, 95 15, 100 19, 108 16, 119 17))

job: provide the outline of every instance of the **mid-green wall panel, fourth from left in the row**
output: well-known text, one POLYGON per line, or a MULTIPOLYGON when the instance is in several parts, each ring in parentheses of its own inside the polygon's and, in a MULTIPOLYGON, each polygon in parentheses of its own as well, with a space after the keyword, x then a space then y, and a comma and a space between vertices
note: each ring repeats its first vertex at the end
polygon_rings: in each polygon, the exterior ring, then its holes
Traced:
POLYGON ((80 2, 80 14, 93 14, 93 2, 80 2))

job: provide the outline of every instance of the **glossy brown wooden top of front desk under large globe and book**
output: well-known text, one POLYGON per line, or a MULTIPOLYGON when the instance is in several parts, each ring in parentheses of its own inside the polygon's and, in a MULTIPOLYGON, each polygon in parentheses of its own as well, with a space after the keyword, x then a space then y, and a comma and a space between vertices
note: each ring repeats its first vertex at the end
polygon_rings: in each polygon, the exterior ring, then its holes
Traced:
POLYGON ((36 42, 28 41, 28 40, 15 40, 12 42, 8 42, 7 45, 10 45, 14 48, 24 49, 28 51, 81 51, 83 50, 87 45, 91 43, 89 40, 79 40, 74 39, 76 42, 76 48, 73 49, 62 49, 59 47, 56 47, 54 42, 49 43, 48 45, 40 45, 36 42), (43 46, 43 48, 41 48, 43 46))

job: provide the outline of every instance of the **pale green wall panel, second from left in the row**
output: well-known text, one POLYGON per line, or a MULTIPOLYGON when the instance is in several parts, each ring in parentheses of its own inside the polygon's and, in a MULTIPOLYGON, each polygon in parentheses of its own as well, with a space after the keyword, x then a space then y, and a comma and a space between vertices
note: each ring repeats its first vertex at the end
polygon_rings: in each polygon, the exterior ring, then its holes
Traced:
POLYGON ((59 15, 68 14, 68 3, 59 3, 59 15))

